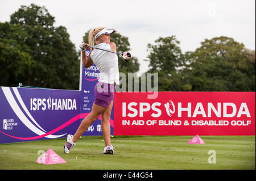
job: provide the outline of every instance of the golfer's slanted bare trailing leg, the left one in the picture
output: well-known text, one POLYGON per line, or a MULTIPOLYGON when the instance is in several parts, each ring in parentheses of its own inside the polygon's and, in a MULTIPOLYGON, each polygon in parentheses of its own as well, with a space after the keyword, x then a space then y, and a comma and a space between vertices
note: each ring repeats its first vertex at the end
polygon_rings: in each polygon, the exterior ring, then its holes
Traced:
POLYGON ((84 120, 82 120, 79 128, 77 129, 75 135, 73 136, 73 142, 77 142, 79 140, 80 136, 88 129, 88 127, 98 119, 98 117, 101 115, 102 112, 106 110, 105 107, 98 106, 97 104, 93 104, 92 111, 89 113, 88 116, 85 117, 84 120))

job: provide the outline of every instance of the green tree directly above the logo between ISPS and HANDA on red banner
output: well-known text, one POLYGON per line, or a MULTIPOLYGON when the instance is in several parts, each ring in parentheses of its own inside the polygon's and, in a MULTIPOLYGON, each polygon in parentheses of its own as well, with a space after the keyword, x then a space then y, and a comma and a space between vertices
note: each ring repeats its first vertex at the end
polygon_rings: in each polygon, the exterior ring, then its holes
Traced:
POLYGON ((159 37, 155 44, 147 45, 149 54, 145 61, 150 62, 147 72, 158 73, 159 91, 183 91, 181 71, 185 57, 179 44, 176 36, 168 36, 159 37))

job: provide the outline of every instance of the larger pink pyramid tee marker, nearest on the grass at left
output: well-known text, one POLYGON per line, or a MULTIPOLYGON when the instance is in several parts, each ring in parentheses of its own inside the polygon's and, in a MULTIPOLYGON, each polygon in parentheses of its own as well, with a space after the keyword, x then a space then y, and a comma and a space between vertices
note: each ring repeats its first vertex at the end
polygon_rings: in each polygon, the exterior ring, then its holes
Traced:
POLYGON ((57 164, 57 163, 67 163, 64 161, 63 158, 61 158, 59 155, 57 155, 52 149, 48 149, 46 153, 38 157, 38 159, 35 161, 36 163, 42 163, 45 165, 51 165, 51 164, 57 164))

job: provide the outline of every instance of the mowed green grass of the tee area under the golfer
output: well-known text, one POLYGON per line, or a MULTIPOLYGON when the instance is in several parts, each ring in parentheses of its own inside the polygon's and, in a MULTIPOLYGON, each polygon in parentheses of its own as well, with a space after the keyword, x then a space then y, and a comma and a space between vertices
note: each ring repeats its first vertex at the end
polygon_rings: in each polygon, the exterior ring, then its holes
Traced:
POLYGON ((115 154, 104 155, 102 136, 83 136, 65 154, 65 139, 0 145, 0 169, 175 170, 255 169, 255 136, 200 136, 205 144, 187 144, 193 136, 114 136, 115 154), (51 148, 67 163, 36 163, 38 151, 51 148), (208 163, 209 150, 216 163, 208 163))

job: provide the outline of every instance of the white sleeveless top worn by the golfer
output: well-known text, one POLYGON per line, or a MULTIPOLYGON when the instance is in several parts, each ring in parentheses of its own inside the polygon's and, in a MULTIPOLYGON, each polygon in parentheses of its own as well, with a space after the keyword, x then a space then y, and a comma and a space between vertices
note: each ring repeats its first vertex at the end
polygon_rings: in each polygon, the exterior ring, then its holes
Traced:
MULTIPOLYGON (((110 45, 107 43, 101 43, 95 47, 110 50, 110 45)), ((98 82, 110 83, 114 82, 119 85, 119 69, 118 69, 118 57, 115 53, 106 52, 94 48, 90 53, 90 58, 100 71, 100 79, 98 82)))

